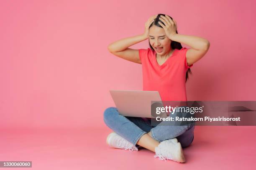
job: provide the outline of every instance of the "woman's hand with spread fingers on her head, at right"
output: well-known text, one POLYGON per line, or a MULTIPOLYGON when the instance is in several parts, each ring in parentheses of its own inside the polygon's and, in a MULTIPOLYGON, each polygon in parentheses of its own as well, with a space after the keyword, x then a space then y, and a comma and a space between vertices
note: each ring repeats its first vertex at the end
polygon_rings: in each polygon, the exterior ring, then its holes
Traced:
POLYGON ((164 24, 162 24, 160 21, 158 22, 159 25, 162 26, 162 28, 164 28, 164 31, 166 33, 166 36, 172 40, 172 37, 174 35, 176 35, 176 31, 177 31, 177 23, 175 20, 172 20, 172 18, 170 18, 168 15, 161 15, 161 17, 159 17, 159 20, 161 20, 164 24))

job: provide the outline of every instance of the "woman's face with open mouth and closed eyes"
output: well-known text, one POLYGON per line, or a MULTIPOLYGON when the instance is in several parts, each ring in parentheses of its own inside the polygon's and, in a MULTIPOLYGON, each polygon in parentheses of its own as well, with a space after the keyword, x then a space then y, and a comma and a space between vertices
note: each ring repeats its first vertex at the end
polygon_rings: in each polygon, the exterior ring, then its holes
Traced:
POLYGON ((171 42, 164 31, 164 28, 156 25, 149 28, 149 43, 154 48, 157 54, 168 54, 171 49, 171 42))

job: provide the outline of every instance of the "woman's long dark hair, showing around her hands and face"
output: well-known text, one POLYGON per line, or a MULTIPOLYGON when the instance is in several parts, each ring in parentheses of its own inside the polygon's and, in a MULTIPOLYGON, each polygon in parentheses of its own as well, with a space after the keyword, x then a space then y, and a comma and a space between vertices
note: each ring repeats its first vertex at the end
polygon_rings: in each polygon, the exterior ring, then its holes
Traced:
MULTIPOLYGON (((158 14, 156 19, 154 20, 154 22, 149 26, 149 28, 152 27, 153 25, 156 25, 156 26, 162 28, 162 26, 158 23, 160 21, 162 24, 164 24, 161 20, 159 20, 160 15, 164 15, 165 16, 165 14, 158 14)), ((172 19, 172 17, 170 17, 170 18, 172 19)), ((178 33, 178 31, 176 31, 176 33, 178 33)), ((149 46, 150 46, 151 50, 154 51, 154 48, 150 45, 150 42, 149 42, 149 46)), ((182 45, 179 42, 176 42, 176 41, 172 41, 171 42, 171 47, 172 47, 172 49, 178 49, 178 50, 182 49, 182 45)), ((187 72, 186 72, 186 82, 187 82, 187 79, 188 79, 188 73, 192 74, 190 68, 187 69, 187 72)))

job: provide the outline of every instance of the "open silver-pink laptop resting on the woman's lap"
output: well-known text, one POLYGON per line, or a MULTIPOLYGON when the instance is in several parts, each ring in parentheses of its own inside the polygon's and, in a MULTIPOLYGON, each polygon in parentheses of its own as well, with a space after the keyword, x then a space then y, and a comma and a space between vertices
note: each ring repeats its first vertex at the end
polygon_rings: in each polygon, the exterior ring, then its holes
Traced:
POLYGON ((151 101, 161 101, 158 91, 110 90, 120 115, 151 117, 151 101))

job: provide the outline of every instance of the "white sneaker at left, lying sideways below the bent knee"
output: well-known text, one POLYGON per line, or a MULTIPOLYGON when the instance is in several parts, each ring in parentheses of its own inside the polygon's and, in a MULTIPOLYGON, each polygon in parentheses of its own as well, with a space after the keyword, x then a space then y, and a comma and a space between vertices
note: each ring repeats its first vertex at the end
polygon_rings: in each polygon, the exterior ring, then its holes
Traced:
POLYGON ((132 143, 130 143, 128 140, 124 139, 117 133, 113 132, 108 135, 107 138, 107 144, 110 145, 110 147, 118 148, 118 149, 124 149, 124 150, 137 150, 138 148, 134 146, 132 143))

